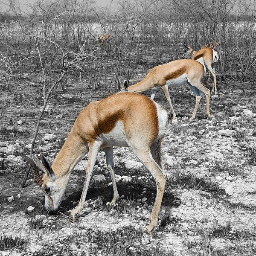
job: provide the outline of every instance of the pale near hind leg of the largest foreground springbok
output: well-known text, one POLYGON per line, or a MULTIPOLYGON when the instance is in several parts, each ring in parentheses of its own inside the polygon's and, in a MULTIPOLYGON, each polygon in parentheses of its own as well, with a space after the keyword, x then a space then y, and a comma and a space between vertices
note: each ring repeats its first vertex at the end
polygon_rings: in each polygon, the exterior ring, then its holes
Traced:
POLYGON ((156 181, 157 184, 157 195, 154 201, 153 209, 149 217, 150 223, 146 228, 147 232, 149 234, 152 234, 153 228, 157 226, 158 215, 160 212, 163 199, 163 192, 166 183, 166 173, 164 172, 164 170, 160 168, 160 166, 158 166, 157 163, 155 163, 149 148, 148 151, 145 151, 145 149, 137 149, 136 151, 134 151, 134 154, 139 158, 141 163, 143 163, 143 165, 148 169, 148 171, 154 177, 154 180, 156 181))

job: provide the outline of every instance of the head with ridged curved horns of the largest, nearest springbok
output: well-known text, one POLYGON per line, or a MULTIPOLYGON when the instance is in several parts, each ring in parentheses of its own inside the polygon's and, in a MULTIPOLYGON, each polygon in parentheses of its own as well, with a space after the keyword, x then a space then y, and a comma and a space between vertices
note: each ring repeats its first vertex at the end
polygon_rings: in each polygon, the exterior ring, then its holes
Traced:
POLYGON ((57 179, 51 164, 44 155, 41 155, 41 161, 34 155, 32 155, 32 159, 23 154, 21 154, 21 157, 32 166, 35 183, 44 193, 45 208, 52 212, 56 211, 64 196, 67 177, 63 176, 57 179), (40 176, 39 170, 45 172, 43 178, 40 176))

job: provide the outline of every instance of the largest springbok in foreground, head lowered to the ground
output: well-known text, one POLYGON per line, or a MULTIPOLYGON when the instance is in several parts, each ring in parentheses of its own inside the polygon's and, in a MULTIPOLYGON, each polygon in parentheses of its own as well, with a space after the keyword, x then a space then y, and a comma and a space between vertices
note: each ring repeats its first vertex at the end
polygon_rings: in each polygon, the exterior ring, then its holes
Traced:
POLYGON ((104 148, 106 163, 113 184, 114 205, 119 199, 116 188, 113 146, 130 147, 148 169, 157 184, 157 195, 150 215, 148 233, 157 226, 166 173, 160 155, 160 145, 168 124, 168 113, 156 102, 137 93, 117 93, 106 99, 91 102, 77 117, 70 134, 52 166, 42 155, 41 161, 25 155, 34 172, 35 182, 44 192, 45 207, 56 211, 61 204, 70 174, 76 164, 89 151, 86 181, 78 206, 70 217, 76 219, 83 208, 98 152, 104 148), (41 178, 39 169, 45 172, 41 178))

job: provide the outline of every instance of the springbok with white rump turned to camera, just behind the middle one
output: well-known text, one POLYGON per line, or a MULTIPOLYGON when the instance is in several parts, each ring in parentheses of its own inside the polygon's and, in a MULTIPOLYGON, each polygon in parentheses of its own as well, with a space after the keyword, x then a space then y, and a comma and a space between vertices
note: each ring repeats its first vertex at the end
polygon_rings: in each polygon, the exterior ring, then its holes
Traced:
POLYGON ((211 42, 209 44, 204 45, 203 48, 199 51, 195 51, 191 47, 187 47, 184 44, 186 49, 184 51, 183 58, 192 58, 193 60, 199 61, 200 63, 204 61, 207 70, 209 70, 209 72, 212 74, 212 93, 217 93, 215 64, 219 59, 218 53, 212 48, 216 49, 218 45, 219 44, 217 42, 211 42), (212 48, 208 48, 208 46, 211 46, 212 48))

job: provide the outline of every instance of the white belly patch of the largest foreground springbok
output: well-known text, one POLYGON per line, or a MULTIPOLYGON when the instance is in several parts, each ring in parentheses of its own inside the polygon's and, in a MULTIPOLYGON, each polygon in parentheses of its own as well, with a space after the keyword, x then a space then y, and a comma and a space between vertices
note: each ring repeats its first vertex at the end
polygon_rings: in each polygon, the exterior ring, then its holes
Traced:
POLYGON ((116 122, 115 127, 108 134, 101 134, 99 140, 103 142, 103 146, 119 146, 128 147, 126 143, 124 125, 122 121, 116 122))

